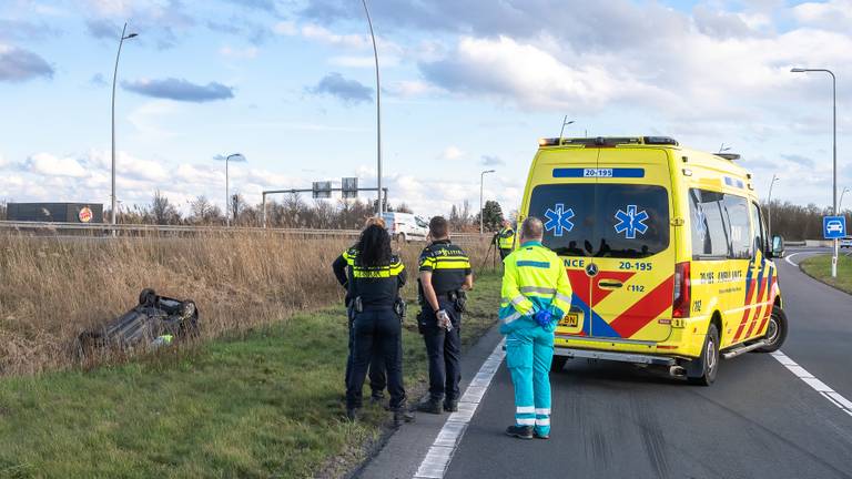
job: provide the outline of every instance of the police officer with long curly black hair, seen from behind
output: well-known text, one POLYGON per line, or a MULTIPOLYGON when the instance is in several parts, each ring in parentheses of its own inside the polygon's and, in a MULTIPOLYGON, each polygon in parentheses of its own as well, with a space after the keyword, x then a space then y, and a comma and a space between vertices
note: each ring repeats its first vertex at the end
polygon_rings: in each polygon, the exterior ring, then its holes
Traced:
POLYGON ((376 347, 387 371, 387 391, 394 424, 414 416, 406 409, 403 386, 402 319, 405 306, 399 288, 405 285, 405 266, 390 252, 390 235, 379 225, 367 226, 355 246, 348 281, 354 309, 352 371, 346 385, 346 417, 356 420, 362 407, 362 389, 376 347))

